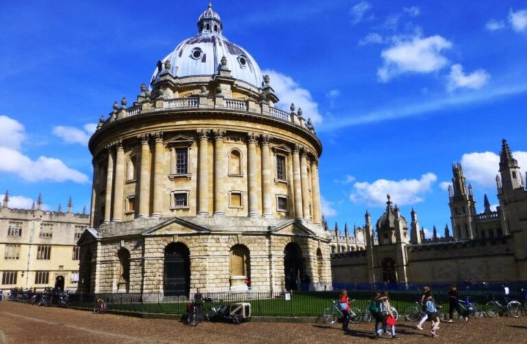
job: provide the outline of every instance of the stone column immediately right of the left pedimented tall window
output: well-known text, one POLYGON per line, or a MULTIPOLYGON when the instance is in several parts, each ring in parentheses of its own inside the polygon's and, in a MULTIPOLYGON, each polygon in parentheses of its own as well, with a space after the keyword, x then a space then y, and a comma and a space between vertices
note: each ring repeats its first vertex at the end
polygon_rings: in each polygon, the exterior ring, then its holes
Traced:
POLYGON ((208 129, 198 129, 198 216, 209 217, 209 141, 208 129))

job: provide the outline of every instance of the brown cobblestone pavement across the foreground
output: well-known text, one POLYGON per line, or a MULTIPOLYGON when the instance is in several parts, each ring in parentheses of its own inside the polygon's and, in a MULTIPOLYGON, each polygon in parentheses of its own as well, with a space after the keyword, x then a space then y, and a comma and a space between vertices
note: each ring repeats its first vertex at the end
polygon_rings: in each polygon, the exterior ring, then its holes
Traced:
MULTIPOLYGON (((414 323, 397 326, 401 343, 429 343, 428 331, 414 323)), ((428 328, 429 325, 425 324, 428 328)), ((325 323, 200 323, 196 328, 168 319, 98 315, 85 310, 0 302, 0 330, 8 343, 371 343, 373 323, 351 326, 325 323)), ((473 319, 442 323, 434 343, 526 343, 527 317, 473 319)), ((390 339, 382 336, 377 343, 390 339)))

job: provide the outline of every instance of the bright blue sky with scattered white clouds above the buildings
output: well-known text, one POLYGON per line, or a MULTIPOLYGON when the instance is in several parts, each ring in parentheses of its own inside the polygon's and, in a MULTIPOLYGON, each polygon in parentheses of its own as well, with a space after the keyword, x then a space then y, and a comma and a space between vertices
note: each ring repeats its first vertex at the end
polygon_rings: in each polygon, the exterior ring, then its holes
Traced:
MULTIPOLYGON (((86 141, 113 101, 197 32, 207 2, 3 1, 0 194, 89 208, 86 141)), ((526 1, 214 1, 224 35, 271 76, 323 142, 327 221, 364 223, 386 193, 443 230, 461 161, 478 210, 497 204, 502 138, 527 165, 526 1)), ((522 163, 523 162, 523 163, 522 163)), ((523 169, 525 171, 525 169, 523 169)))

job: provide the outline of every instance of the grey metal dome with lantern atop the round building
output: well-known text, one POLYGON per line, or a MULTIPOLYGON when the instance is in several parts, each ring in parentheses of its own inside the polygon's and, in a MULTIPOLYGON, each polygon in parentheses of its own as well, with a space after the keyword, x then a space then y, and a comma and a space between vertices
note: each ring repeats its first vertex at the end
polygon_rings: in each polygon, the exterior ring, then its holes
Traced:
POLYGON ((253 56, 239 45, 229 42, 222 35, 222 29, 220 16, 209 4, 209 9, 198 20, 199 33, 180 42, 172 53, 158 62, 151 84, 165 72, 165 68, 174 77, 215 75, 225 56, 225 67, 231 70, 231 77, 261 87, 264 77, 253 56))

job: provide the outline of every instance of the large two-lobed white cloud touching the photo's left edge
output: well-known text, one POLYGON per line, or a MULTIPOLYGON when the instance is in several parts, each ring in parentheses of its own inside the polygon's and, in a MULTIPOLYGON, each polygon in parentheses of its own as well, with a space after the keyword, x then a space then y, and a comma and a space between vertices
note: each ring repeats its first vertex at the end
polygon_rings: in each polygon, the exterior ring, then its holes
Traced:
POLYGON ((25 140, 23 125, 8 116, 0 116, 0 172, 13 173, 29 182, 51 180, 54 182, 88 182, 88 177, 75 169, 70 169, 56 158, 40 156, 37 160, 21 153, 20 146, 25 140))

